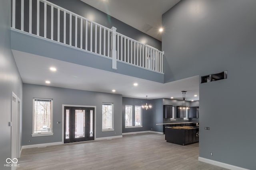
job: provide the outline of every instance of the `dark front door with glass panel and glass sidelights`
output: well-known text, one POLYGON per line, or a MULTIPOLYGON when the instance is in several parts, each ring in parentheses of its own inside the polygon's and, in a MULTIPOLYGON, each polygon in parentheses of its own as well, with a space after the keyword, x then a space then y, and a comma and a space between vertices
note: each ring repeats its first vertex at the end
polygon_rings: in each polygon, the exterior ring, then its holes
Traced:
POLYGON ((64 143, 94 140, 94 108, 64 107, 64 143))

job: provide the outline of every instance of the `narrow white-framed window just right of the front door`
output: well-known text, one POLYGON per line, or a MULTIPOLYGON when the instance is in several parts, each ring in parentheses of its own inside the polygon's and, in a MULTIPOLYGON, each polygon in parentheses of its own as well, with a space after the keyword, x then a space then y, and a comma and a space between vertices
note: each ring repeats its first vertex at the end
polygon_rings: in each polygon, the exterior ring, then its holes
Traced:
POLYGON ((113 104, 102 104, 102 131, 114 131, 113 104))

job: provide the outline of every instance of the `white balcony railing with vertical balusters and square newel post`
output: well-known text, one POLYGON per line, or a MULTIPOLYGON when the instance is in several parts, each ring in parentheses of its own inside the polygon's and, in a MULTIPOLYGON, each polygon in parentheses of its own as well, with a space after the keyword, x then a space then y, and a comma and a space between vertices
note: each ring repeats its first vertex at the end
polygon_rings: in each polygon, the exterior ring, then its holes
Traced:
POLYGON ((164 52, 46 0, 12 0, 12 29, 163 73, 164 52))

